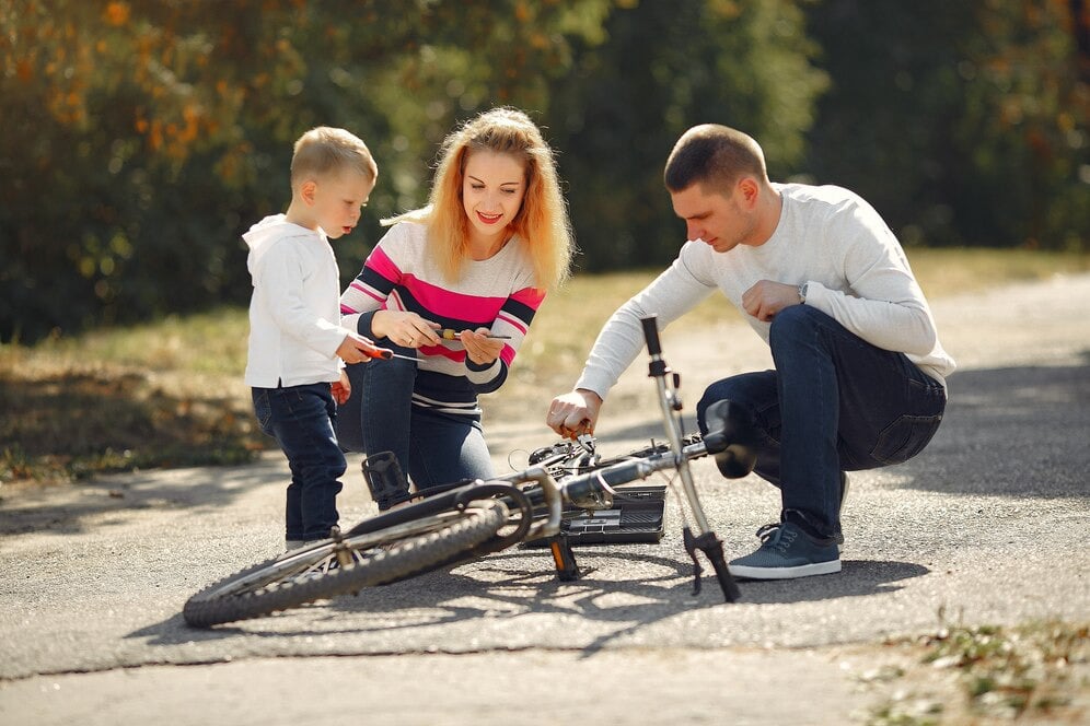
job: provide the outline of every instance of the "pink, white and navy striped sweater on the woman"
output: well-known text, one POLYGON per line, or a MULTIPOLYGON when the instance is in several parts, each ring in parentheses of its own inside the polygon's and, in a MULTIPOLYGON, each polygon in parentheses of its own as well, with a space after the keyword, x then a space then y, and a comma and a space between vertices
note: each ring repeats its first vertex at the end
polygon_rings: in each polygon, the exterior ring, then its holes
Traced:
POLYGON ((371 319, 376 311, 407 311, 443 328, 486 327, 510 336, 499 358, 485 366, 468 360, 457 340, 417 351, 413 403, 479 418, 477 394, 503 385, 544 293, 534 286, 533 266, 521 238, 512 238, 486 260, 466 260, 461 279, 450 281, 428 254, 427 231, 415 222, 390 229, 341 294, 341 325, 374 339, 371 319))

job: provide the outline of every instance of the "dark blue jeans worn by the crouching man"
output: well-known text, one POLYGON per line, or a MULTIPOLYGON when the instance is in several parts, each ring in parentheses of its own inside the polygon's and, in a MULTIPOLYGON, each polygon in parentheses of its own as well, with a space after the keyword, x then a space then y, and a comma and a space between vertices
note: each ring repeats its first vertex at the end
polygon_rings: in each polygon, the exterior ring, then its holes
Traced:
POLYGON ((877 348, 816 308, 773 318, 774 371, 708 386, 705 412, 729 399, 747 406, 761 441, 754 467, 780 489, 784 522, 827 539, 839 535, 840 472, 906 461, 942 421, 947 396, 903 353, 877 348))

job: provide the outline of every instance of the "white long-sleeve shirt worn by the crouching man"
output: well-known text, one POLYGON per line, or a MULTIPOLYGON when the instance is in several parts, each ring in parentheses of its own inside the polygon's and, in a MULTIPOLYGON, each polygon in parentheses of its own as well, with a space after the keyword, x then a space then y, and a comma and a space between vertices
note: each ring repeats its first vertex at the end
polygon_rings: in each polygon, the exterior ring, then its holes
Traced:
POLYGON ((700 241, 686 242, 673 265, 602 328, 577 388, 604 399, 643 346, 640 318, 657 315, 664 327, 716 289, 768 342, 770 324, 742 307, 742 294, 761 280, 809 283, 807 305, 878 348, 905 353, 946 385, 954 361, 939 343, 935 318, 904 250, 878 212, 840 187, 773 186, 784 204, 768 241, 727 253, 700 241))

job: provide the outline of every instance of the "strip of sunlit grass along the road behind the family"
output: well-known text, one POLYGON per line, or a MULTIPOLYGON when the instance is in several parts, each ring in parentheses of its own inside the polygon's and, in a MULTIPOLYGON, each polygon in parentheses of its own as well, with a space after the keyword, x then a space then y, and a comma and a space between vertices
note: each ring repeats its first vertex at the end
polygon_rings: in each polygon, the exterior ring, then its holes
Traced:
MULTIPOLYGON (((909 251, 931 298, 1057 272, 1090 270, 1090 255, 909 251)), ((503 393, 541 408, 567 389, 602 324, 658 270, 577 276, 550 295, 503 393)), ((715 294, 675 324, 740 319, 715 294)), ((271 440, 254 425, 245 368, 246 312, 170 317, 130 328, 0 346, 0 483, 71 481, 151 467, 236 464, 271 440)))

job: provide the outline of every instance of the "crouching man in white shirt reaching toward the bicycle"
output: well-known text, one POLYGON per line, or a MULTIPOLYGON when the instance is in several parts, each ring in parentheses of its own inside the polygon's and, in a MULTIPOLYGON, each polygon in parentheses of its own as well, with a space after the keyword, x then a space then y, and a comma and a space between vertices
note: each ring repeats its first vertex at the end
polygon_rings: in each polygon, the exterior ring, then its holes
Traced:
POLYGON ((942 419, 954 362, 924 293, 870 204, 839 187, 770 183, 761 147, 740 131, 689 129, 664 182, 688 242, 614 313, 546 423, 565 436, 592 432, 642 347, 639 319, 657 315, 665 325, 721 290, 769 344, 776 367, 709 386, 697 421, 707 432, 705 414, 719 400, 743 411, 754 470, 782 499, 779 522, 757 530, 761 547, 731 561, 731 574, 839 572, 844 472, 907 460, 942 419))

